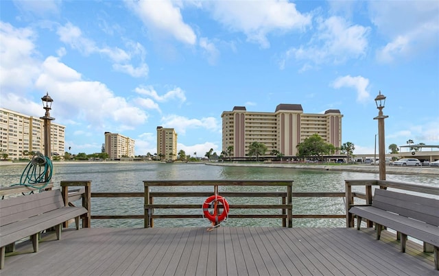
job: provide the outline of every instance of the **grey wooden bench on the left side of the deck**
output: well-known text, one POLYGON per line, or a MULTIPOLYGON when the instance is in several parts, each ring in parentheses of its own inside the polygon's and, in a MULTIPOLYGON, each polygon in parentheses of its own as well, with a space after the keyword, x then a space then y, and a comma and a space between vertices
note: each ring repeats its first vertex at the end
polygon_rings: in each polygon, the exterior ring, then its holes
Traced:
POLYGON ((60 190, 0 200, 0 269, 5 266, 6 247, 13 251, 16 241, 30 236, 36 252, 41 231, 55 227, 60 240, 62 223, 75 218, 79 229, 80 216, 87 212, 83 207, 65 206, 60 190))

